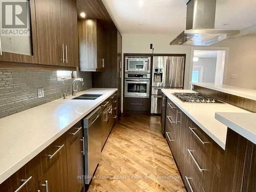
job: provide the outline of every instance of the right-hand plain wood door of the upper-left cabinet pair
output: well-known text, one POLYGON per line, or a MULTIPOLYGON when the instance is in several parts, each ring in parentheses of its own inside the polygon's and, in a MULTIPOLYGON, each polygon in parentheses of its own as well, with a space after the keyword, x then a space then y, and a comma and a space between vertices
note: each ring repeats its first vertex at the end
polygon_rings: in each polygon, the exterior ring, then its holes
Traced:
POLYGON ((61 45, 64 45, 63 65, 78 67, 78 34, 76 0, 61 0, 61 45))

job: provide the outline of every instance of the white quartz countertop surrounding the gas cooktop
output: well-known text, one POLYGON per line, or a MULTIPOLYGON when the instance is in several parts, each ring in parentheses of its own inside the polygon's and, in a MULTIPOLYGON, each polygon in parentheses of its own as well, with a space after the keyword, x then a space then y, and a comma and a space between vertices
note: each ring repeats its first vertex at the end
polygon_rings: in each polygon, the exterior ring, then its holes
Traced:
POLYGON ((226 145, 227 126, 215 119, 216 112, 251 113, 236 106, 224 103, 186 103, 173 93, 195 93, 192 90, 162 89, 162 92, 173 101, 180 110, 193 120, 209 137, 224 150, 226 145))

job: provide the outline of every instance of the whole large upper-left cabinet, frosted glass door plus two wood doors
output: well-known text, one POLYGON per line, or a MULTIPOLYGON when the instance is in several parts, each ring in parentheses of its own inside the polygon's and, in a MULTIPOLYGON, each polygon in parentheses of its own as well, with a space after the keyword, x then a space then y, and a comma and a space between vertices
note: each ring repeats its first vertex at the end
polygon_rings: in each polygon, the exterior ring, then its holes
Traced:
POLYGON ((1 3, 0 61, 78 67, 76 0, 1 3))

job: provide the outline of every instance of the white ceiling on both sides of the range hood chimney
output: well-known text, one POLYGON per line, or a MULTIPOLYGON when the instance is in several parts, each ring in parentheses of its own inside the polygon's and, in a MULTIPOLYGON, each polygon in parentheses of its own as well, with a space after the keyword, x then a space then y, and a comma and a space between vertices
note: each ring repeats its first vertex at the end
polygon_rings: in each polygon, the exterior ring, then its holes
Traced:
MULTIPOLYGON (((185 29, 188 0, 102 0, 123 33, 178 35, 185 29)), ((216 29, 256 24, 256 0, 217 0, 216 29)))

